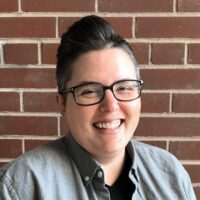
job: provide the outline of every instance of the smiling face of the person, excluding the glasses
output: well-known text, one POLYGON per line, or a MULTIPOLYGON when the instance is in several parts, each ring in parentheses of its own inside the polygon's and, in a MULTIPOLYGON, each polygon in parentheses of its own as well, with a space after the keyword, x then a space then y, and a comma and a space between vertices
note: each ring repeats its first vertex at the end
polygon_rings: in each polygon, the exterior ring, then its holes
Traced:
MULTIPOLYGON (((83 82, 111 85, 121 79, 137 79, 135 66, 125 51, 107 48, 80 56, 67 88, 83 82)), ((68 93, 64 115, 75 140, 98 160, 124 152, 138 125, 140 107, 140 98, 121 102, 110 90, 102 102, 91 106, 77 105, 68 93)))

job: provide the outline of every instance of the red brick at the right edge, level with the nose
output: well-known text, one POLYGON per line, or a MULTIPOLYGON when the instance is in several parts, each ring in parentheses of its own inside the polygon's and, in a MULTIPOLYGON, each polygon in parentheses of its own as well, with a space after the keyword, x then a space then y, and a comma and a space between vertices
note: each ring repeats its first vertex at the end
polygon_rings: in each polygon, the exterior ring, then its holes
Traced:
POLYGON ((200 94, 174 94, 173 112, 200 113, 200 94))

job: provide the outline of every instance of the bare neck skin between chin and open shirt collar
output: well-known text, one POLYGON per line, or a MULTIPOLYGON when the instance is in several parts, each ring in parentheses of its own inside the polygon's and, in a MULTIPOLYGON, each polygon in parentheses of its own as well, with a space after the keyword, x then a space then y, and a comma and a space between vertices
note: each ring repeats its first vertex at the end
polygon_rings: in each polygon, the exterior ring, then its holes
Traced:
POLYGON ((107 185, 113 185, 123 169, 125 162, 125 149, 123 152, 120 152, 120 154, 112 156, 111 158, 104 158, 99 162, 104 171, 105 183, 107 185))

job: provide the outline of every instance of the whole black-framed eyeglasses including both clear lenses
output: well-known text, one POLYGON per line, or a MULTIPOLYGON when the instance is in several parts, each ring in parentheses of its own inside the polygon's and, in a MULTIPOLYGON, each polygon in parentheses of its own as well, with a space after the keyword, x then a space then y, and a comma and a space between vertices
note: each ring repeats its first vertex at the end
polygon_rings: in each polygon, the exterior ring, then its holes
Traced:
POLYGON ((103 101, 105 91, 109 89, 118 101, 126 102, 135 100, 141 96, 143 84, 144 82, 142 80, 130 79, 116 81, 109 86, 95 82, 88 82, 71 87, 65 90, 63 94, 71 92, 78 105, 90 106, 103 101))

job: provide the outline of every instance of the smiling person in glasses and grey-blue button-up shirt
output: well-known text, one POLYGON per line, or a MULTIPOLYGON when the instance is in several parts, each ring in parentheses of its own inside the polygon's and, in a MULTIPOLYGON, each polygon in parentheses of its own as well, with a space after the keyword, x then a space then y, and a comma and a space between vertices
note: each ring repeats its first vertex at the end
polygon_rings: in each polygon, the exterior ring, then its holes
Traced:
POLYGON ((69 133, 5 166, 3 199, 195 199, 171 154, 131 140, 143 81, 131 47, 104 19, 84 17, 63 34, 56 75, 69 133))

